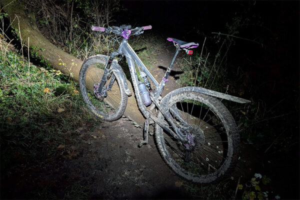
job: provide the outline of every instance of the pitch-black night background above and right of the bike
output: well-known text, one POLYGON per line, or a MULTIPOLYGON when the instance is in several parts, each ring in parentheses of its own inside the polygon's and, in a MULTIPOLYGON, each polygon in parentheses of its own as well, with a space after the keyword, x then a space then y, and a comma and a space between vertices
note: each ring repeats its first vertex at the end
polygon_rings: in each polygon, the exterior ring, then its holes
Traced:
MULTIPOLYGON (((242 19, 234 35, 245 39, 233 38, 234 45, 227 56, 228 77, 236 85, 243 85, 243 97, 263 104, 264 112, 272 110, 264 115, 260 127, 255 127, 257 132, 278 135, 284 131, 281 136, 295 143, 276 146, 274 151, 264 154, 266 159, 274 161, 271 167, 261 170, 272 174, 275 190, 284 198, 298 198, 299 1, 121 1, 121 4, 125 10, 120 12, 116 23, 150 24, 153 34, 198 42, 195 52, 201 50, 207 37, 205 48, 215 54, 221 42, 216 42, 217 34, 212 32, 228 34, 226 23, 230 24, 234 17, 242 19)), ((262 154, 263 148, 259 148, 262 154)))

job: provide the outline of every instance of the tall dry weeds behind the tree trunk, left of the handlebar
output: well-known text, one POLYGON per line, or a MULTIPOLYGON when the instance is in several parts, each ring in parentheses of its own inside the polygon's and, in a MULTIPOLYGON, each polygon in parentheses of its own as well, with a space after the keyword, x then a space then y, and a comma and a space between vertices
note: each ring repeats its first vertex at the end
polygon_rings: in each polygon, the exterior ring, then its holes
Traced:
POLYGON ((35 11, 37 25, 52 43, 71 55, 85 59, 93 54, 106 54, 108 36, 95 35, 93 25, 107 27, 112 14, 118 12, 116 0, 48 0, 27 1, 35 11), (41 8, 41 9, 39 9, 41 8))

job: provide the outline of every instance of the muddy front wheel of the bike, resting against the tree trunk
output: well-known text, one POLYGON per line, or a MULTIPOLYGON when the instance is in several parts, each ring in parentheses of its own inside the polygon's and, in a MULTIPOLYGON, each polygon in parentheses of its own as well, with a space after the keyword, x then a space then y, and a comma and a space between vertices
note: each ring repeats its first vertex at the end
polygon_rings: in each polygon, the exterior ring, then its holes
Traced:
POLYGON ((79 85, 83 100, 88 108, 100 119, 114 121, 120 118, 126 108, 127 95, 121 84, 120 78, 114 71, 108 76, 104 86, 112 83, 107 95, 102 97, 95 92, 101 81, 102 70, 106 63, 107 56, 93 55, 87 58, 79 72, 79 85))

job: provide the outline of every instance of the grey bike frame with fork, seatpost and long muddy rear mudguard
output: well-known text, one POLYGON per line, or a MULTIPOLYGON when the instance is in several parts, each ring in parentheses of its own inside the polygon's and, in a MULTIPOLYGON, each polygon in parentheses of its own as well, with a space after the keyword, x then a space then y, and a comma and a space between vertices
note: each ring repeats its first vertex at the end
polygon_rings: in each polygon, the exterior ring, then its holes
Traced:
MULTIPOLYGON (((170 73, 171 67, 173 65, 173 62, 176 58, 177 53, 179 52, 179 48, 176 49, 175 55, 173 57, 173 60, 170 63, 170 66, 167 68, 164 77, 162 78, 161 82, 158 83, 155 78, 152 76, 152 74, 148 71, 148 69, 145 67, 145 65, 142 63, 142 61, 140 60, 140 58, 136 55, 135 51, 131 48, 131 46, 128 44, 128 39, 123 38, 122 42, 118 48, 117 51, 114 51, 110 54, 109 60, 112 60, 115 56, 117 55, 124 55, 126 57, 127 60, 127 64, 129 66, 129 71, 130 71, 130 75, 132 78, 132 83, 133 83, 133 87, 134 87, 134 92, 135 92, 135 97, 137 100, 137 104, 139 109, 141 110, 142 114, 147 118, 147 119, 152 119, 153 122, 157 123, 159 126, 161 126, 164 130, 166 130, 167 132, 169 132, 170 134, 172 134, 172 136, 174 136, 174 138, 176 139, 181 139, 181 140, 186 140, 186 135, 183 135, 181 133, 181 131, 177 128, 177 126, 172 122, 171 120, 171 115, 170 112, 176 116, 176 118, 178 118, 181 122, 185 123, 184 120, 181 118, 180 113, 178 111, 176 111, 176 109, 173 109, 172 107, 170 108, 170 110, 165 109, 166 108, 166 101, 161 101, 161 92, 163 90, 163 87, 165 85, 165 83, 167 82, 167 77, 170 73), (149 111, 147 109, 147 107, 143 104, 142 99, 141 99, 141 95, 139 92, 139 88, 138 88, 138 77, 137 77, 137 73, 136 73, 136 69, 135 69, 135 64, 137 66, 137 68, 139 68, 141 71, 145 72, 145 74, 148 76, 148 78, 150 78, 150 80, 154 83, 155 88, 154 88, 154 92, 150 92, 150 98, 152 100, 152 104, 149 106, 149 110, 154 109, 155 107, 162 113, 162 115, 165 117, 165 119, 168 121, 169 124, 165 123, 165 122, 161 122, 161 120, 159 120, 151 111, 149 111), (163 104, 162 106, 160 106, 160 104, 163 104), (173 128, 170 129, 169 125, 173 128)), ((108 64, 108 61, 106 62, 106 65, 108 64)), ((118 64, 117 64, 118 65, 118 64)), ((119 65, 118 65, 119 66, 119 65)), ((109 67, 105 66, 105 69, 108 68, 116 67, 116 64, 109 64, 109 67)), ((112 69, 114 70, 114 69, 112 69)), ((128 86, 124 85, 124 82, 126 82, 126 78, 123 75, 123 71, 121 69, 121 67, 117 67, 117 71, 118 74, 120 76, 121 82, 124 86, 125 89, 128 90, 128 86), (121 73, 121 74, 120 74, 121 73)), ((104 72, 105 74, 105 72, 104 72)), ((103 78, 105 79, 103 74, 102 80, 103 78)), ((106 75, 108 75, 106 73, 106 75)), ((102 81, 101 80, 101 81, 102 81)), ((212 91, 209 89, 205 89, 202 87, 183 87, 183 88, 179 88, 177 89, 177 92, 180 92, 181 90, 189 90, 189 91, 194 91, 194 92, 199 92, 199 93, 204 93, 210 96, 215 96, 215 97, 219 97, 219 98, 224 98, 227 100, 231 100, 231 101, 235 101, 235 102, 239 102, 239 103, 247 103, 250 102, 249 100, 243 99, 243 98, 239 98, 239 97, 235 97, 235 96, 231 96, 228 94, 224 94, 224 93, 220 93, 217 91, 212 91)), ((126 92, 128 94, 128 92, 126 92)))

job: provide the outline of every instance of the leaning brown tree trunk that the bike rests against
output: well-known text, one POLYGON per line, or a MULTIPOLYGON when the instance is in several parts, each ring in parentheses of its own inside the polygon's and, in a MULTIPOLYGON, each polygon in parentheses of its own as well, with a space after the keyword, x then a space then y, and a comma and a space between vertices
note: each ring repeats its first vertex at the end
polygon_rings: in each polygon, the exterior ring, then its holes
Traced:
MULTIPOLYGON (((18 36, 22 44, 37 47, 38 56, 43 57, 55 69, 62 73, 70 74, 73 80, 78 81, 79 70, 82 65, 82 60, 69 55, 50 43, 38 30, 35 23, 34 13, 27 13, 24 10, 23 3, 18 0, 0 0, 10 17, 11 26, 18 29, 18 36), (42 49, 42 50, 41 50, 42 49)), ((89 74, 87 74, 88 76, 89 74)), ((134 92, 131 83, 128 81, 129 89, 133 95, 128 97, 127 107, 124 115, 129 116, 136 121, 140 126, 143 126, 144 117, 138 110, 134 92)))

